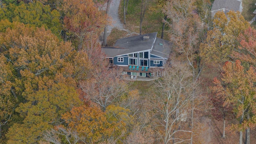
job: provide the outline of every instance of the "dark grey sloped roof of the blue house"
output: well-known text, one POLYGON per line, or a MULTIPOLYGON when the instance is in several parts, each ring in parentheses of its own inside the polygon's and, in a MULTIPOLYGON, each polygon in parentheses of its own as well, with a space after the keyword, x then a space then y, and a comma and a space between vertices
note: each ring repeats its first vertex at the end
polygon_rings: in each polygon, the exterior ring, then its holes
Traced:
POLYGON ((109 58, 113 58, 115 56, 152 49, 151 54, 169 58, 171 51, 170 42, 161 38, 156 38, 156 34, 157 32, 153 32, 150 34, 121 38, 116 41, 114 48, 102 48, 102 51, 104 51, 109 58), (149 36, 149 39, 144 41, 144 36, 149 36))

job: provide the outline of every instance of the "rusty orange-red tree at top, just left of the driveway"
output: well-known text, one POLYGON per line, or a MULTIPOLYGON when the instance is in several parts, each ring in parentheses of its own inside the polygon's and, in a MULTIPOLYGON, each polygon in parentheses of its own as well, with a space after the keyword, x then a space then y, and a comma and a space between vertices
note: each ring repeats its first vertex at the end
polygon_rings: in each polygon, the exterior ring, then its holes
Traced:
POLYGON ((92 0, 64 0, 61 9, 65 14, 64 27, 78 39, 78 50, 87 41, 96 42, 106 25, 107 16, 92 0))

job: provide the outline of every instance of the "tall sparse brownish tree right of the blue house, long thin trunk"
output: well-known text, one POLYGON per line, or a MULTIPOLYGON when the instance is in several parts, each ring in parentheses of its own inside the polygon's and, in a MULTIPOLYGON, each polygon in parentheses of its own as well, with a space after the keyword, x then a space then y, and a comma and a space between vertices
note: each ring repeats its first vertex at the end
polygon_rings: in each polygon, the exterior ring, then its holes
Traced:
MULTIPOLYGON (((166 3, 164 13, 171 22, 166 21, 170 27, 168 35, 174 44, 174 52, 177 59, 186 62, 192 71, 193 83, 198 82, 201 74, 203 62, 198 55, 203 32, 201 20, 197 14, 193 13, 195 0, 171 0, 166 3)), ((196 91, 193 91, 192 109, 191 109, 191 130, 194 128, 194 99, 196 91)), ((190 144, 193 142, 193 132, 191 133, 190 144)))

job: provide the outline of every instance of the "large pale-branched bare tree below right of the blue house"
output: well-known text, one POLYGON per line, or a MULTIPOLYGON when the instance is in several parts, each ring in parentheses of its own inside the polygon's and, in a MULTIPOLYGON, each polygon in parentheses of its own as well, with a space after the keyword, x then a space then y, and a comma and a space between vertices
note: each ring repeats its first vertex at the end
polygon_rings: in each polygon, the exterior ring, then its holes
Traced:
POLYGON ((193 99, 192 74, 188 66, 180 63, 173 64, 172 68, 166 67, 164 73, 164 77, 155 82, 156 93, 152 100, 160 117, 162 141, 164 144, 188 142, 192 131, 182 122, 189 117, 193 99))

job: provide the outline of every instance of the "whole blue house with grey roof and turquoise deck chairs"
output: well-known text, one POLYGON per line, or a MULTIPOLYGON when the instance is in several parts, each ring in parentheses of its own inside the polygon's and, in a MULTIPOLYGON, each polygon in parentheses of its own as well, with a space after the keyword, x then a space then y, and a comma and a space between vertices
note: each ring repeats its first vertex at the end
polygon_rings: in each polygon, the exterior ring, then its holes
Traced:
POLYGON ((102 48, 113 66, 120 66, 124 74, 149 76, 163 68, 172 44, 156 37, 157 32, 118 39, 111 48, 102 48))

